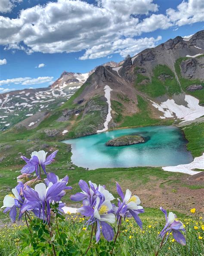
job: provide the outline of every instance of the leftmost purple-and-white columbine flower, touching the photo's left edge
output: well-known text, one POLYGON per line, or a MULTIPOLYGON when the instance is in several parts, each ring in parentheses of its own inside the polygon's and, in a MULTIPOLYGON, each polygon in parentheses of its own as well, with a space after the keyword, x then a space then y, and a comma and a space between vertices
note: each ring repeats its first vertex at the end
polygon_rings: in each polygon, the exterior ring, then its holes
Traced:
POLYGON ((23 188, 23 183, 19 182, 19 184, 14 189, 12 189, 12 194, 6 195, 3 199, 3 206, 1 208, 6 208, 3 211, 4 213, 9 211, 12 222, 15 222, 17 215, 16 208, 20 208, 24 202, 24 199, 22 198, 23 188))

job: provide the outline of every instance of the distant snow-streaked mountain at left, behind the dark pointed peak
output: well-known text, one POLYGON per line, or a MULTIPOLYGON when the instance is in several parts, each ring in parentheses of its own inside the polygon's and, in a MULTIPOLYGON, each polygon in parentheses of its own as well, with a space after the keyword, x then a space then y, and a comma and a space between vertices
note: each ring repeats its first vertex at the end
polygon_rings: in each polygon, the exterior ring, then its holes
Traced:
MULTIPOLYGON (((103 64, 107 65, 117 67, 118 64, 114 61, 103 64)), ((62 106, 96 68, 85 74, 64 71, 48 88, 0 94, 0 130, 9 129, 13 125, 24 126, 27 129, 37 127, 49 112, 62 106)))

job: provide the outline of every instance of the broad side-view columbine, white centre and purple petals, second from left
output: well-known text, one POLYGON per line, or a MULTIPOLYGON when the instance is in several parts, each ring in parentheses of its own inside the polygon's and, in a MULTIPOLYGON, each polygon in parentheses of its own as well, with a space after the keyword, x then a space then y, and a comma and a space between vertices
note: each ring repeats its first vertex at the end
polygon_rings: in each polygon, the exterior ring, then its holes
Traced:
POLYGON ((26 186, 24 189, 25 202, 22 205, 21 213, 25 211, 37 211, 40 214, 43 214, 43 221, 49 222, 50 220, 50 203, 53 201, 59 202, 62 196, 65 195, 66 182, 57 182, 53 184, 49 183, 49 186, 46 188, 44 183, 37 184, 34 189, 31 189, 29 186, 26 186))

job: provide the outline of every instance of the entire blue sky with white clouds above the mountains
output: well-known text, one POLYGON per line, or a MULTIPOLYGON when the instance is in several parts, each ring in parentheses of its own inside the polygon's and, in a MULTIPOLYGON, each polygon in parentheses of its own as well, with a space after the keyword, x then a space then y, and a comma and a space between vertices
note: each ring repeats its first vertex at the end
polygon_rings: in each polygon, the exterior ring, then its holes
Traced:
POLYGON ((204 0, 0 0, 0 93, 204 29, 204 0))

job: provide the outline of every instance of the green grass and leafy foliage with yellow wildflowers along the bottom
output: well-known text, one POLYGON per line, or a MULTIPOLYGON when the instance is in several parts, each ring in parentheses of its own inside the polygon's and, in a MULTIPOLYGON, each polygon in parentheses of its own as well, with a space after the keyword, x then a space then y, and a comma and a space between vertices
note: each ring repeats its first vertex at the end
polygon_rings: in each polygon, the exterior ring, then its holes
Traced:
MULTIPOLYGON (((194 216, 194 215, 193 215, 194 216)), ((33 221, 33 220, 32 220, 33 221)), ((58 234, 50 241, 48 229, 39 220, 29 223, 32 239, 26 228, 25 221, 21 226, 13 224, 8 229, 7 226, 0 230, 0 256, 36 256, 52 255, 51 243, 56 246, 57 255, 84 255, 90 242, 90 227, 84 227, 86 220, 80 215, 68 215, 65 223, 59 224, 60 237, 58 234), (35 225, 34 225, 35 224, 35 225), (46 230, 43 233, 43 230, 46 230), (40 243, 37 244, 37 240, 40 243), (31 246, 28 246, 31 243, 31 246), (34 253, 36 250, 36 253, 34 253)), ((127 219, 121 229, 117 246, 112 255, 138 255, 150 256, 154 248, 159 245, 158 233, 164 227, 165 220, 162 218, 142 218, 143 230, 136 225, 132 219, 127 219)), ((186 246, 177 243, 170 234, 167 243, 162 246, 160 255, 168 256, 201 256, 204 251, 203 236, 204 226, 202 219, 182 218, 185 225, 186 246)), ((116 225, 114 227, 116 229, 116 225)), ((93 243, 87 255, 89 256, 108 256, 112 249, 113 242, 107 242, 102 238, 99 243, 93 243)))

